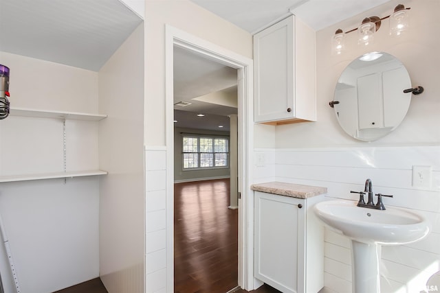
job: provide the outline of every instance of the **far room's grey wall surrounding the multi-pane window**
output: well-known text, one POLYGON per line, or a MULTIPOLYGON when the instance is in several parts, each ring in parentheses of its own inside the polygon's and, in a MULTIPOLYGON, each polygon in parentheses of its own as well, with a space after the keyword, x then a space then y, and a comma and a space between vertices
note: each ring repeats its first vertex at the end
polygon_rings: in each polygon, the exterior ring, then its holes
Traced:
POLYGON ((195 134, 222 135, 223 137, 229 137, 229 132, 225 132, 225 131, 210 131, 210 130, 175 127, 174 128, 174 182, 209 180, 214 178, 229 178, 230 168, 184 170, 182 154, 181 154, 182 152, 181 132, 195 133, 195 134))

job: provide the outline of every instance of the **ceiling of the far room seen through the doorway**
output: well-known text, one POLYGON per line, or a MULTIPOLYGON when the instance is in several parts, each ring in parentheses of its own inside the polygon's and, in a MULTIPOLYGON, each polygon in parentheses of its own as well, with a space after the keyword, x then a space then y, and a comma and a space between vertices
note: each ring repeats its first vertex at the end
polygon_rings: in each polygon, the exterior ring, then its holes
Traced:
POLYGON ((228 115, 237 113, 236 69, 174 47, 173 74, 174 104, 191 103, 174 106, 175 126, 229 131, 228 115))

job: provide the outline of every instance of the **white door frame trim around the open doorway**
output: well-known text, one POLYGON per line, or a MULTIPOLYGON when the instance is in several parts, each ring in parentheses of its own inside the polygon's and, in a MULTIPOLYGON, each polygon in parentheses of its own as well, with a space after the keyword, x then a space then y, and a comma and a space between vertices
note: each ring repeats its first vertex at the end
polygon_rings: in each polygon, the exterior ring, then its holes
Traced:
MULTIPOLYGON (((253 196, 250 189, 253 125, 253 60, 188 34, 170 25, 165 30, 166 95, 166 267, 167 290, 174 292, 174 122, 173 122, 173 47, 228 65, 238 71, 239 97, 239 286, 254 289, 253 196)), ((148 54, 148 53, 147 53, 148 54)), ((146 65, 148 66, 148 65, 146 65)), ((232 289, 232 288, 231 288, 232 289)))

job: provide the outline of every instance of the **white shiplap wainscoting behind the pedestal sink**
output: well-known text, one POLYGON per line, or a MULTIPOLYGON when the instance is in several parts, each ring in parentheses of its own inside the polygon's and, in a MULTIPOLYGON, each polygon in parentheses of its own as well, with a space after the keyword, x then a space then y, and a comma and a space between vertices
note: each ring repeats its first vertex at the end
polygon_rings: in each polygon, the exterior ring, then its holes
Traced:
MULTIPOLYGON (((413 209, 428 218, 431 233, 420 242, 382 246, 382 293, 440 292, 440 146, 256 149, 254 182, 277 180, 327 187, 327 199, 358 200, 366 178, 385 206, 413 209), (429 188, 412 187, 412 166, 431 166, 429 188)), ((326 229, 326 292, 351 293, 349 240, 326 229)), ((354 292, 353 292, 354 293, 354 292)))

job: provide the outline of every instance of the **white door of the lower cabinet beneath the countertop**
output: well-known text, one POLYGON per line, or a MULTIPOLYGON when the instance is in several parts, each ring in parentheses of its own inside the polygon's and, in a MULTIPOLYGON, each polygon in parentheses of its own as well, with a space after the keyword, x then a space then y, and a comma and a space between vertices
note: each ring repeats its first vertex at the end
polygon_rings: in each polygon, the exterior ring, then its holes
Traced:
POLYGON ((305 200, 256 191, 254 220, 255 277, 282 292, 300 292, 305 200))

